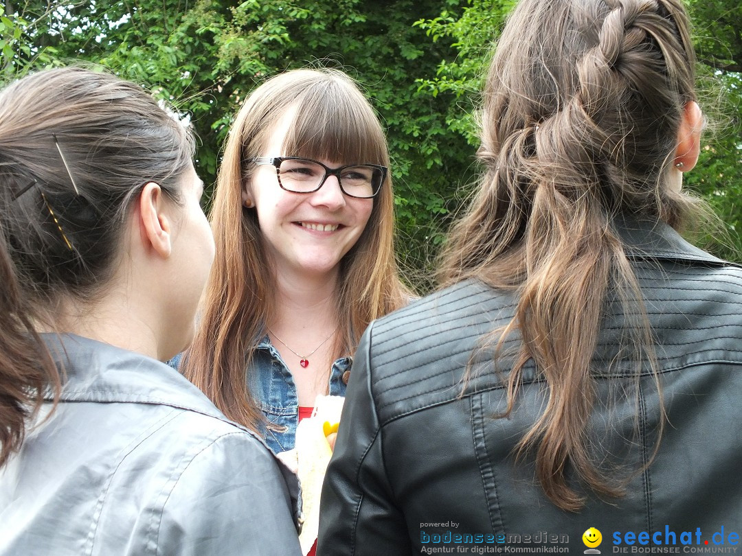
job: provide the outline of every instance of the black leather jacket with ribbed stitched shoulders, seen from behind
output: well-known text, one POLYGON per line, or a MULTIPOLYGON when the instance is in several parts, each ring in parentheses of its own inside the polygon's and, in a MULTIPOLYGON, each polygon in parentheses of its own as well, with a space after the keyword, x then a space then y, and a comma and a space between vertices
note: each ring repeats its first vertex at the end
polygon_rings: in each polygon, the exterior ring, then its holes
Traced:
MULTIPOLYGON (((513 446, 545 403, 532 367, 507 419, 496 418, 506 394, 488 358, 461 395, 470 354, 515 303, 462 282, 366 331, 324 483, 318 555, 505 554, 513 546, 582 554, 590 527, 602 533, 604 555, 742 553, 742 269, 666 225, 634 222, 621 233, 657 340, 669 417, 654 461, 629 475, 626 496, 588 492, 584 511, 562 512, 534 480, 533 461, 514 463, 513 446)), ((637 397, 621 394, 631 383, 620 365, 609 368, 615 318, 594 359, 597 399, 612 401, 594 406, 592 449, 636 471, 651 458, 658 394, 649 370, 637 397)))

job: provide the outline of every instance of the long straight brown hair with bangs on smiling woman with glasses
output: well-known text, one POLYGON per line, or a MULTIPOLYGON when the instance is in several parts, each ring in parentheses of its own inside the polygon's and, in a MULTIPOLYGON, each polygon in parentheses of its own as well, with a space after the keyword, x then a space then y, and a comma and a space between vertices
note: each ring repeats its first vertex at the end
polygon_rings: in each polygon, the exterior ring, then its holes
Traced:
MULTIPOLYGON (((283 148, 292 156, 389 166, 384 132, 372 107, 338 70, 292 70, 268 79, 246 99, 230 130, 217 180, 211 224, 217 246, 196 338, 183 373, 227 417, 257 428, 260 410, 246 372, 274 311, 275 278, 255 210, 243 208, 253 157, 289 107, 296 107, 283 148)), ((409 297, 393 251, 391 179, 375 196, 358 242, 341 260, 336 297, 341 337, 335 356, 351 354, 369 322, 409 297)))

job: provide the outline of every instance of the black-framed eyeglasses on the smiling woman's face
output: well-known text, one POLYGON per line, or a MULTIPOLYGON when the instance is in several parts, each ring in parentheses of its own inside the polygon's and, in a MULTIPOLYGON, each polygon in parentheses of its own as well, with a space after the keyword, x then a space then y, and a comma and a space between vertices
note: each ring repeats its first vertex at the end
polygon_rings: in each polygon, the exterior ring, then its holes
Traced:
POLYGON ((275 166, 278 185, 292 193, 314 193, 327 176, 338 178, 341 191, 349 197, 370 199, 381 190, 388 168, 378 164, 357 164, 328 168, 322 162, 299 156, 258 156, 256 165, 275 166))

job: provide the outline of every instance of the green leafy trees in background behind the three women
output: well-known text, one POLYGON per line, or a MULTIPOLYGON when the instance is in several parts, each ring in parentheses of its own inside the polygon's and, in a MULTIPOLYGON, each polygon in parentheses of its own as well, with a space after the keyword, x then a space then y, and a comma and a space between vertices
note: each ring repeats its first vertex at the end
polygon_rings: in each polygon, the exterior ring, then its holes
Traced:
MULTIPOLYGON (((307 64, 358 79, 387 130, 398 251, 421 291, 476 179, 477 92, 514 0, 0 0, 0 80, 102 64, 185 113, 213 183, 232 116, 266 76, 307 64)), ((686 185, 715 206, 721 257, 742 257, 742 5, 690 0, 712 131, 686 185)))

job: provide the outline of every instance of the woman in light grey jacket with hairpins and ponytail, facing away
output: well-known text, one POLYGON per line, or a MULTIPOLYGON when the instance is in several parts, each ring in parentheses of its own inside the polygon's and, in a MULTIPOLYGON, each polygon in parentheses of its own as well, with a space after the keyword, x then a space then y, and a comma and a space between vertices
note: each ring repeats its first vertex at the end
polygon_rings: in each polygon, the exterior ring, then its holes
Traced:
POLYGON ((191 131, 133 83, 0 91, 0 555, 297 555, 298 483, 162 363, 214 239, 191 131))

